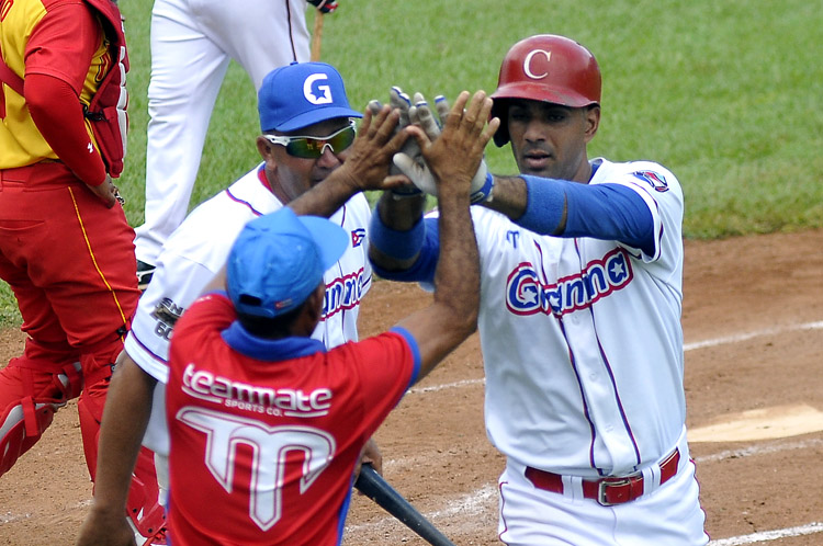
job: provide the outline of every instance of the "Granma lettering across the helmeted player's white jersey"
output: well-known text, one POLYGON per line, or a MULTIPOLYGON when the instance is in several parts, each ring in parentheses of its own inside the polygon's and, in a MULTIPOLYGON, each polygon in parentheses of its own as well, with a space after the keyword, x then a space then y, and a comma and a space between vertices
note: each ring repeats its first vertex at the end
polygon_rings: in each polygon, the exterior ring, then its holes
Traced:
POLYGON ((590 307, 598 299, 625 287, 634 274, 629 255, 622 248, 606 254, 602 260, 586 264, 582 273, 544 285, 535 268, 523 262, 506 282, 506 307, 515 315, 563 316, 590 307))

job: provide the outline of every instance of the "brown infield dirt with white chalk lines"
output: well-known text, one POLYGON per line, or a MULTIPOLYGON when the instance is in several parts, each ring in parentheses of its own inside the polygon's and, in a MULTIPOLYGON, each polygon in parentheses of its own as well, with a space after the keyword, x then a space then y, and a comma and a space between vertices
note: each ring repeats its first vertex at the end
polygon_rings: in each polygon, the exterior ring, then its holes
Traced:
MULTIPOLYGON (((687 241, 684 292, 689 437, 712 544, 823 544, 823 230, 687 241)), ((427 302, 416 286, 379 281, 361 331, 427 302)), ((0 362, 21 343, 0 332, 0 362)), ((503 458, 483 426, 476 335, 376 437, 386 479, 455 544, 500 544, 503 458)), ((72 544, 90 494, 72 402, 0 478, 0 545, 72 544)), ((345 544, 425 545, 358 496, 345 544)))

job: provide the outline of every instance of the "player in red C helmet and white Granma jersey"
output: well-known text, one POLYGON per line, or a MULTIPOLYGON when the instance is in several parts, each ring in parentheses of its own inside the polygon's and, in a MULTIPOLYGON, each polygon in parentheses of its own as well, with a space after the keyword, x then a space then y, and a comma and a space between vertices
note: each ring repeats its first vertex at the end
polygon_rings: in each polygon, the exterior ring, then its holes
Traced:
MULTIPOLYGON (((511 141, 521 173, 482 167, 472 198, 486 431, 507 457, 499 538, 704 545, 685 426, 680 185, 654 162, 588 160, 600 71, 574 41, 512 46, 492 96, 495 143, 511 141)), ((430 187, 425 169, 395 163, 430 187)), ((437 226, 421 203, 381 197, 381 276, 430 282, 437 226)))

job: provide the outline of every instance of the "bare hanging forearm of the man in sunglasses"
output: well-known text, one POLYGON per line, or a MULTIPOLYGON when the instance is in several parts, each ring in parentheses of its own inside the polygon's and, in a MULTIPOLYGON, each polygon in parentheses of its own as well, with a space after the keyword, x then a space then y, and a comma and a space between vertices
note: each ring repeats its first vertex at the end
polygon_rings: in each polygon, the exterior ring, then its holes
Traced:
POLYGON ((125 514, 132 471, 151 413, 156 383, 125 351, 121 353, 100 426, 93 505, 98 512, 125 514))

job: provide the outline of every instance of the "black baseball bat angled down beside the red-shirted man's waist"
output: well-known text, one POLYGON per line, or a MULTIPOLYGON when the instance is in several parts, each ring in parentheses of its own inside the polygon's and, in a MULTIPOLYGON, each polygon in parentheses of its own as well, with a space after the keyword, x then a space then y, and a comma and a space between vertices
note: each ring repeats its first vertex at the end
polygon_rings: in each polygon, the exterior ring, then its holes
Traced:
POLYGON ((372 465, 365 464, 360 468, 354 487, 432 546, 454 546, 453 542, 388 485, 372 465))

